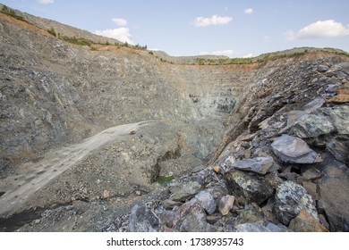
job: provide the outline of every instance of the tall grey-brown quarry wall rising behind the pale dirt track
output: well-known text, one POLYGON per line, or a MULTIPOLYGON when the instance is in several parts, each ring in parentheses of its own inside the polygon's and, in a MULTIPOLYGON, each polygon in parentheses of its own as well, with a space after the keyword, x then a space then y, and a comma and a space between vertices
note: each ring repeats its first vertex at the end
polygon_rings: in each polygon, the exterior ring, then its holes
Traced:
POLYGON ((225 116, 257 68, 172 65, 125 47, 91 51, 0 18, 1 158, 13 164, 116 125, 225 116))

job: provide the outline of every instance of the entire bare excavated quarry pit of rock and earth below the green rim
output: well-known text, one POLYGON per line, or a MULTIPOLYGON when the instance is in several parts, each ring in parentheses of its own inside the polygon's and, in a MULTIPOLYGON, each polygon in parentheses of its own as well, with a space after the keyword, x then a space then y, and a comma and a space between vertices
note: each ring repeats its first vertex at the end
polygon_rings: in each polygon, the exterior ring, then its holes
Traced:
POLYGON ((347 55, 180 65, 34 20, 0 13, 1 230, 349 230, 347 55))

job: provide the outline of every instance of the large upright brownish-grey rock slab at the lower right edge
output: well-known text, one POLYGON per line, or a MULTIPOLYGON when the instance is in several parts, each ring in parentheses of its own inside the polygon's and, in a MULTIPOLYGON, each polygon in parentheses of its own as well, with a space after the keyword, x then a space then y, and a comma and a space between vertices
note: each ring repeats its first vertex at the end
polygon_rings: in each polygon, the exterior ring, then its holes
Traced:
POLYGON ((327 215, 331 231, 349 231, 349 169, 330 155, 321 166, 319 209, 327 215))

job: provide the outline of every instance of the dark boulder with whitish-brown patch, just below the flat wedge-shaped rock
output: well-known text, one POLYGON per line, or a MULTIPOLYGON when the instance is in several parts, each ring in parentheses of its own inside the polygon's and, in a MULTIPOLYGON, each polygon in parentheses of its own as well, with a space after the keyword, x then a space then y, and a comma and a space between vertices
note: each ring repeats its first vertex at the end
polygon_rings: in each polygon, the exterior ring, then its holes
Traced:
POLYGON ((241 196, 251 203, 261 204, 274 192, 264 179, 253 173, 228 171, 225 179, 226 186, 234 196, 241 196))

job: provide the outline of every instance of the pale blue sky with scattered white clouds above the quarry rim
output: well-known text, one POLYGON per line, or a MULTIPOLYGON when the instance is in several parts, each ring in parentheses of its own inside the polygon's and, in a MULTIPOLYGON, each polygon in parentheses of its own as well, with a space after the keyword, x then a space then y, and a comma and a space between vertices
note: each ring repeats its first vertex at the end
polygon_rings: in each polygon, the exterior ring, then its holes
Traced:
POLYGON ((349 52, 348 0, 0 0, 171 55, 256 56, 296 46, 349 52))

